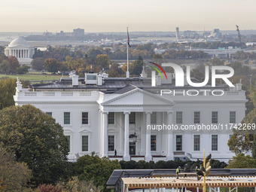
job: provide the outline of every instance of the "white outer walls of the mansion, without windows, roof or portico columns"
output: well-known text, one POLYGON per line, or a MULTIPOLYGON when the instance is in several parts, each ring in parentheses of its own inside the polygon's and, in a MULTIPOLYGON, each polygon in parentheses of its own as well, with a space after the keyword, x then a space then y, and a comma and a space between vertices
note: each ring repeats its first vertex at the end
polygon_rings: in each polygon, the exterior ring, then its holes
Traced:
MULTIPOLYGON (((134 93, 139 96, 139 92, 134 93)), ((194 111, 200 111, 200 123, 212 123, 212 111, 218 111, 218 123, 229 123, 230 111, 236 111, 236 122, 239 123, 245 116, 245 93, 243 91, 233 94, 233 96, 209 97, 195 96, 191 102, 185 96, 169 96, 167 99, 174 102, 172 107, 172 116, 168 116, 166 111, 157 112, 157 124, 176 123, 175 112, 182 111, 183 124, 194 124, 194 111), (168 120, 172 117, 172 120, 168 120)), ((53 118, 57 123, 63 126, 66 136, 71 136, 70 159, 75 159, 78 154, 80 157, 84 154, 90 154, 95 151, 96 154, 102 156, 102 146, 108 145, 108 141, 102 142, 102 111, 114 111, 115 123, 108 125, 108 135, 114 136, 114 149, 117 150, 117 156, 124 154, 124 114, 123 111, 136 111, 136 124, 130 124, 129 135, 136 133, 138 142, 136 143, 136 155, 145 156, 146 154, 146 121, 145 111, 138 106, 128 105, 134 101, 129 99, 133 96, 126 96, 123 99, 117 99, 113 105, 102 105, 109 99, 114 99, 119 95, 107 95, 97 91, 83 92, 29 92, 23 89, 17 92, 14 100, 17 105, 31 104, 40 108, 44 112, 52 112, 53 118), (126 106, 122 106, 126 103, 126 106), (89 113, 89 124, 82 125, 82 112, 89 113), (64 125, 64 112, 70 112, 71 123, 64 125), (136 129, 136 130, 135 130, 136 129), (82 152, 81 137, 89 136, 89 151, 82 152)), ((139 105, 139 103, 138 103, 139 105)), ((154 111, 156 107, 152 107, 154 111)), ((164 107, 163 107, 164 108, 164 107)), ((166 110, 166 109, 165 109, 166 110)), ((219 160, 227 161, 233 156, 233 153, 227 146, 227 141, 232 134, 232 130, 221 131, 172 131, 170 141, 166 131, 151 130, 151 135, 157 136, 157 151, 151 151, 151 155, 166 156, 168 154, 168 143, 171 144, 172 159, 181 157, 175 155, 175 136, 182 135, 182 151, 184 156, 192 157, 193 160, 203 157, 203 149, 206 154, 211 153, 212 157, 219 160), (218 151, 212 151, 212 134, 218 135, 218 151), (194 135, 200 135, 200 151, 194 151, 194 135), (190 155, 188 155, 190 154, 190 155)), ((108 151, 108 156, 114 156, 114 151, 108 151)), ((136 160, 142 157, 137 157, 136 160)), ((154 160, 166 160, 163 157, 154 157, 154 160)))

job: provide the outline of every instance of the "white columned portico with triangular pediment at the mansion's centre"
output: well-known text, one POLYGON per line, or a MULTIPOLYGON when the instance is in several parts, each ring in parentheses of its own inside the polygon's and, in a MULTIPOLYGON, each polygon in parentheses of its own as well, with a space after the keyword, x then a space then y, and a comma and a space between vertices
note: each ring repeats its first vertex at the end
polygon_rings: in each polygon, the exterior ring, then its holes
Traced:
POLYGON ((123 160, 150 161, 153 156, 173 159, 171 131, 147 129, 151 123, 172 123, 172 105, 172 102, 141 89, 102 102, 101 156, 116 158, 109 148, 109 138, 114 138, 114 150, 123 160), (125 95, 134 99, 126 100, 125 95), (147 103, 149 100, 151 103, 147 103), (110 122, 112 118, 114 122, 110 122))

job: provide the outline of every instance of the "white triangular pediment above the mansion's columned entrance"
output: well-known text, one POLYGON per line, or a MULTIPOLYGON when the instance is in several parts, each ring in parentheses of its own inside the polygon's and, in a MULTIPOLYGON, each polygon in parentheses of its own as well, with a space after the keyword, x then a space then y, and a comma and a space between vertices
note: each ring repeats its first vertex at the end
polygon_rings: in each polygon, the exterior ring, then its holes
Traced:
POLYGON ((105 102, 102 106, 172 106, 173 102, 163 99, 160 96, 149 93, 148 91, 136 88, 123 93, 105 102))

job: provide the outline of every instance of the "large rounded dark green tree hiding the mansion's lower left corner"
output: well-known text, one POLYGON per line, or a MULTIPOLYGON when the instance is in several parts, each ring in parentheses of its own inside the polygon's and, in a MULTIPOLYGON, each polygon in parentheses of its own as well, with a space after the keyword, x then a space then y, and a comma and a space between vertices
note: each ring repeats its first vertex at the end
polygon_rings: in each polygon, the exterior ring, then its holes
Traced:
POLYGON ((32 186, 55 184, 69 175, 69 143, 62 126, 32 105, 0 111, 0 145, 32 169, 32 186))

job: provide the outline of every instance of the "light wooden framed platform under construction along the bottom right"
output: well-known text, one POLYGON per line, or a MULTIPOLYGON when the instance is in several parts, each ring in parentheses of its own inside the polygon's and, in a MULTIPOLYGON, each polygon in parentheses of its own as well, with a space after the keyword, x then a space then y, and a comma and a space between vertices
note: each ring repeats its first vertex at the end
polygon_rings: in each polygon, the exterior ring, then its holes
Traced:
MULTIPOLYGON (((176 179, 175 177, 145 177, 145 178, 122 178, 123 192, 136 189, 148 189, 150 192, 159 191, 159 189, 168 189, 172 192, 181 191, 201 191, 203 179, 197 181, 197 177, 184 177, 176 179)), ((220 192, 221 187, 226 187, 227 191, 238 191, 239 187, 249 187, 256 191, 256 176, 209 176, 206 177, 206 188, 209 192, 220 192)), ((143 190, 144 191, 144 190, 143 190)))

